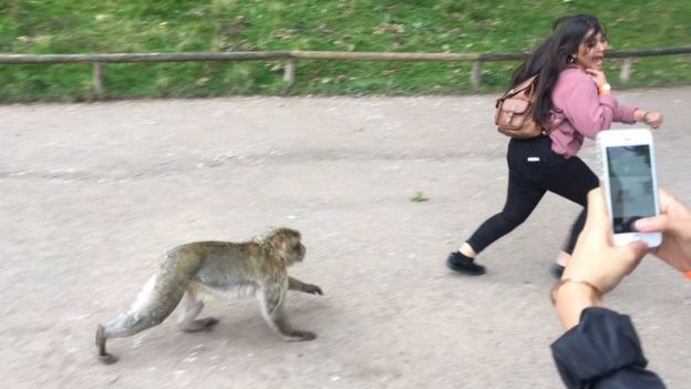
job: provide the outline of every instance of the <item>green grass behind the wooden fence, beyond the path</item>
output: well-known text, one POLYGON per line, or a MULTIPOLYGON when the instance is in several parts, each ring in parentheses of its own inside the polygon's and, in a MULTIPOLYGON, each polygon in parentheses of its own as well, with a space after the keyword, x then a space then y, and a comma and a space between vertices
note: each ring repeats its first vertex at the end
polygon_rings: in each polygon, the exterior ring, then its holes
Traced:
MULTIPOLYGON (((615 49, 691 44, 688 0, 0 0, 0 52, 115 53, 329 50, 519 52, 564 14, 590 12, 615 49)), ((606 71, 616 88, 621 62, 606 71)), ((486 63, 482 90, 515 62, 486 63)), ((446 94, 471 91, 466 62, 280 61, 106 64, 105 98, 228 94, 446 94)), ((691 83, 691 57, 636 61, 627 86, 691 83)), ((94 99, 91 65, 0 65, 0 102, 94 99)))

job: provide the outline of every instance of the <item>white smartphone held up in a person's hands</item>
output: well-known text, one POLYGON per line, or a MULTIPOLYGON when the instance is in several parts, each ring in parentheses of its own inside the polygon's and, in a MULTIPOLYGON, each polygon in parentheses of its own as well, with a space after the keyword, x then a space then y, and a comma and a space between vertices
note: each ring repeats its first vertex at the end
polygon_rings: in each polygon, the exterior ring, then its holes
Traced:
POLYGON ((652 134, 646 129, 602 131, 596 143, 615 245, 643 240, 649 247, 659 246, 660 233, 639 233, 633 227, 639 218, 660 214, 652 134))

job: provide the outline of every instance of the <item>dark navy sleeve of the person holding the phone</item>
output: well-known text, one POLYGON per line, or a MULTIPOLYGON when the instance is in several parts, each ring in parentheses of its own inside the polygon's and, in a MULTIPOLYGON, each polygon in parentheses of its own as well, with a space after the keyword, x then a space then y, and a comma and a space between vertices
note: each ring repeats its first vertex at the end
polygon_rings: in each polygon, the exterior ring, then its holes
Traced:
POLYGON ((551 344, 551 354, 567 388, 664 388, 646 369, 631 319, 613 310, 584 309, 580 323, 551 344))

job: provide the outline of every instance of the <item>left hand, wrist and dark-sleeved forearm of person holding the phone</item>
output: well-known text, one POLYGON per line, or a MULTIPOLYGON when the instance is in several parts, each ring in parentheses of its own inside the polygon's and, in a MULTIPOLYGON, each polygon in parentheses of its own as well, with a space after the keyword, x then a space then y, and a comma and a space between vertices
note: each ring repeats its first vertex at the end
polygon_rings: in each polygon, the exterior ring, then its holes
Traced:
POLYGON ((648 248, 642 242, 613 246, 611 228, 602 191, 594 190, 588 194, 586 225, 561 281, 551 290, 567 330, 551 345, 553 356, 567 388, 664 388, 646 369, 631 320, 600 307, 602 295, 636 268, 648 248))

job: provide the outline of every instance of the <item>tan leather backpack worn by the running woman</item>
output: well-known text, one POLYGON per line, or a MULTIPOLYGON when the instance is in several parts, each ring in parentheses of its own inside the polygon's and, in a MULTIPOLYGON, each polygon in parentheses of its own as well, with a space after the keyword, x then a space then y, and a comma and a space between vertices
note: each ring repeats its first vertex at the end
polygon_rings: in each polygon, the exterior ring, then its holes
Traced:
POLYGON ((537 89, 537 75, 525 80, 496 101, 494 124, 502 134, 519 140, 549 135, 549 133, 564 120, 555 120, 548 129, 535 122, 533 106, 535 104, 535 90, 537 89))

